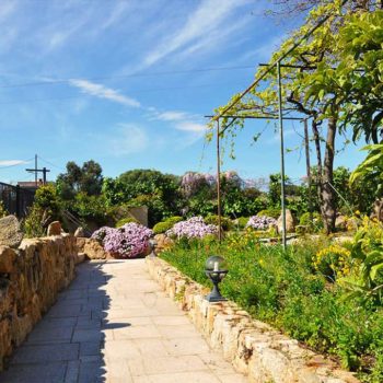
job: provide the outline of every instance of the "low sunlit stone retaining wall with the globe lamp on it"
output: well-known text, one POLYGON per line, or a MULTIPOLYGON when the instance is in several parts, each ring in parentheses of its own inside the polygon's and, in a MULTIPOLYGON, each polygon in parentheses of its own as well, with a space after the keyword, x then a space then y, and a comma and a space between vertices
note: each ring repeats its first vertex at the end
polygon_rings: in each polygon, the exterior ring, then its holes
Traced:
MULTIPOLYGON (((208 303, 208 292, 160 258, 146 258, 149 272, 179 302, 213 349, 223 351, 252 383, 358 383, 352 373, 253 320, 233 302, 208 303)), ((302 318, 304 320, 304 318, 302 318)))

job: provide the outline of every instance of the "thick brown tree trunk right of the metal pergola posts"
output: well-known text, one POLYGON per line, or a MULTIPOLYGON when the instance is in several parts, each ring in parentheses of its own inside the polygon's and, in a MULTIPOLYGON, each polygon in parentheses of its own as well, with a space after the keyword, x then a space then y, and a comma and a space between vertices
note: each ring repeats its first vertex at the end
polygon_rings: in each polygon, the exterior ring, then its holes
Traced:
POLYGON ((326 150, 323 162, 322 177, 322 214, 326 233, 335 230, 336 196, 333 188, 333 170, 335 156, 336 118, 329 118, 327 124, 326 150))

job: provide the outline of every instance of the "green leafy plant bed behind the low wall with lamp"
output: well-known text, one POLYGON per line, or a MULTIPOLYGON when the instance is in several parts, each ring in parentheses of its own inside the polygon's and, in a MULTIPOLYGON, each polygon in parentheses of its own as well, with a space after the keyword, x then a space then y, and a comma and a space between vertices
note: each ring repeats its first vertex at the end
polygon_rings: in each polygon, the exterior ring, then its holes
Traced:
POLYGON ((214 241, 184 241, 161 257, 194 280, 210 286, 204 272, 205 262, 211 254, 222 255, 229 267, 221 283, 225 297, 257 320, 321 352, 336 355, 344 367, 360 372, 365 382, 379 382, 375 376, 383 373, 379 357, 383 353, 383 311, 362 305, 358 299, 345 301, 338 285, 328 289, 312 260, 323 240, 289 246, 283 252, 279 245, 264 246, 252 233, 246 235, 237 237, 240 242, 229 235, 222 245, 214 241))

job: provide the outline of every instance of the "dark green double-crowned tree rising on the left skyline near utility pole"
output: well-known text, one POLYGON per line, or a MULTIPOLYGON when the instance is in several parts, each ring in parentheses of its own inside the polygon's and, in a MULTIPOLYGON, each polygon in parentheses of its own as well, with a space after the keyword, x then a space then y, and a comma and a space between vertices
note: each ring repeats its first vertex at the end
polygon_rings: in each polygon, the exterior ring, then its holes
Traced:
POLYGON ((101 194, 103 176, 102 167, 93 160, 86 161, 80 167, 76 162, 67 163, 67 173, 57 177, 57 188, 62 199, 71 200, 80 192, 89 196, 101 194))

